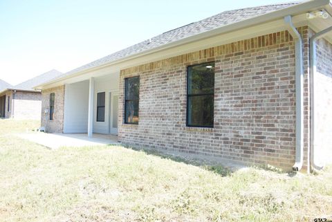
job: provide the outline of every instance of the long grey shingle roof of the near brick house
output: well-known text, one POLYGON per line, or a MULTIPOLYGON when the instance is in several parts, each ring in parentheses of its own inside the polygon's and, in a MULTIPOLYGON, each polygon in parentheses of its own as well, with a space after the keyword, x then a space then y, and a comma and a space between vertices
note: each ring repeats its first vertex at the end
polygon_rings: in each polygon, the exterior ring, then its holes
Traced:
POLYGON ((238 10, 221 12, 217 15, 208 17, 201 21, 196 21, 193 22, 192 24, 181 26, 180 28, 175 28, 174 30, 169 30, 166 33, 157 35, 156 37, 153 37, 146 41, 142 41, 136 45, 130 46, 129 48, 125 48, 111 55, 107 55, 106 57, 102 57, 101 59, 95 60, 94 62, 85 64, 84 66, 80 66, 79 68, 75 68, 74 70, 69 71, 68 73, 64 73, 64 75, 61 75, 59 77, 65 77, 67 75, 77 73, 78 71, 84 71, 88 68, 100 66, 108 62, 114 62, 118 59, 123 59, 124 57, 128 57, 130 55, 142 53, 145 50, 153 49, 173 41, 178 41, 186 37, 197 35, 199 33, 204 33, 214 28, 221 28, 223 26, 234 24, 239 21, 243 21, 260 15, 264 15, 269 12, 274 12, 277 10, 295 6, 299 3, 301 3, 301 1, 294 3, 281 3, 269 6, 243 8, 238 10))

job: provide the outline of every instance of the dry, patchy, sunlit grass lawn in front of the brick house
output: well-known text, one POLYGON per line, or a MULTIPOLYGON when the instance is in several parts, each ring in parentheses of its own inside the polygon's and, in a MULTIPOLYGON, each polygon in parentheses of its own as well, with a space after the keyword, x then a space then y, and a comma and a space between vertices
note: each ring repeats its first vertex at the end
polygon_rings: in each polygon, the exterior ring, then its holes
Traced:
POLYGON ((38 122, 0 120, 0 221, 332 219, 332 169, 228 172, 120 146, 49 150, 17 138, 38 122))

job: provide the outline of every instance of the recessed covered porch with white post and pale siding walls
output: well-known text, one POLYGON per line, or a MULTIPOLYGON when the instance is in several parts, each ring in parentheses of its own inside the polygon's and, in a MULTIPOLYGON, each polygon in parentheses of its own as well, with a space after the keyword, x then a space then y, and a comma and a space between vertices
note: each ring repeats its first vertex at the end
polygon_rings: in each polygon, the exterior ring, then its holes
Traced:
POLYGON ((118 135, 119 72, 68 80, 63 133, 118 135), (95 134, 99 133, 99 134, 95 134))

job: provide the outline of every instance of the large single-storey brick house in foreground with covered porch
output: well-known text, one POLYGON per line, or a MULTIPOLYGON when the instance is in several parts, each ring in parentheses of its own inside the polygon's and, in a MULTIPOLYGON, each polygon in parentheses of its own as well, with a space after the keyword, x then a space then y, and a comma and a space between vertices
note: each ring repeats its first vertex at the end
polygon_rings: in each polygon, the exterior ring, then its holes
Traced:
POLYGON ((118 134, 176 155, 320 169, 332 160, 332 32, 315 33, 332 26, 331 14, 327 0, 284 3, 169 30, 36 86, 42 126, 118 134))

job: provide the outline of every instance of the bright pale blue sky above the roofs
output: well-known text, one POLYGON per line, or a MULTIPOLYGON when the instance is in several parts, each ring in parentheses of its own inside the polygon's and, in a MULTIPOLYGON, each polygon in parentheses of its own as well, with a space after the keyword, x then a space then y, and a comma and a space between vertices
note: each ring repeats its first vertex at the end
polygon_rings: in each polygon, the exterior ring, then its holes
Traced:
POLYGON ((82 66, 167 30, 258 1, 0 0, 0 79, 82 66))

